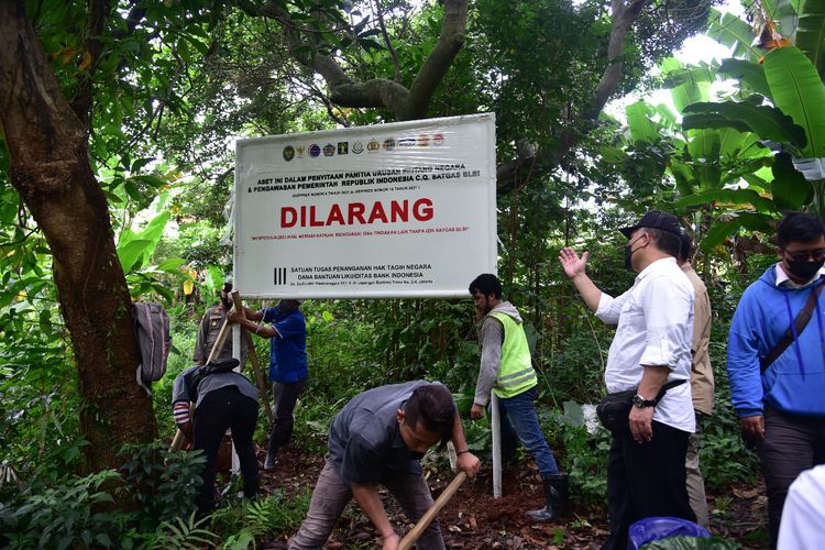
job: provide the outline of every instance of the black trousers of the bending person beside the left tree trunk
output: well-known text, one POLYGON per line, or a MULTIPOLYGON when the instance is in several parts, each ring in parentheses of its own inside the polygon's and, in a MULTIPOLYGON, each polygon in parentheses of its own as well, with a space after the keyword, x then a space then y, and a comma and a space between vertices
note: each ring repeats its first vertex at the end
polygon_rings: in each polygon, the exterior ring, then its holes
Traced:
POLYGON ((199 512, 208 513, 215 508, 215 468, 227 428, 232 430, 232 442, 241 462, 243 494, 251 498, 257 493, 257 459, 252 442, 256 422, 257 402, 241 394, 235 386, 209 392, 195 409, 194 447, 202 449, 207 459, 204 485, 195 499, 199 512))

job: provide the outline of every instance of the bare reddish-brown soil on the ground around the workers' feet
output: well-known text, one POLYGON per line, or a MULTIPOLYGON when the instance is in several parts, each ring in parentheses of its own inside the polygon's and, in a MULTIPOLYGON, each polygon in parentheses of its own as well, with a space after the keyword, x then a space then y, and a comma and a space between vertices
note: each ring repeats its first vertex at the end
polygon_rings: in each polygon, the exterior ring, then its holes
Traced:
MULTIPOLYGON (((263 463, 263 455, 261 457, 263 463)), ((288 495, 315 486, 323 458, 286 449, 274 472, 263 472, 262 491, 283 488, 288 495)), ((449 472, 426 469, 433 497, 452 480, 449 472)), ((528 464, 521 463, 504 473, 504 494, 492 497, 492 471, 487 466, 475 480, 464 483, 439 515, 448 548, 513 549, 548 548, 597 549, 608 535, 604 509, 576 506, 573 516, 551 524, 534 525, 524 512, 542 505, 540 480, 528 464)), ((714 535, 737 541, 744 549, 763 550, 767 525, 765 487, 737 486, 718 495, 711 495, 714 535)), ((396 530, 406 532, 411 527, 395 501, 385 493, 385 506, 396 530)), ((292 534, 290 534, 292 535, 292 534)), ((285 549, 286 537, 265 541, 263 548, 285 549)), ((370 521, 355 506, 348 507, 327 544, 328 549, 380 548, 370 521)))

